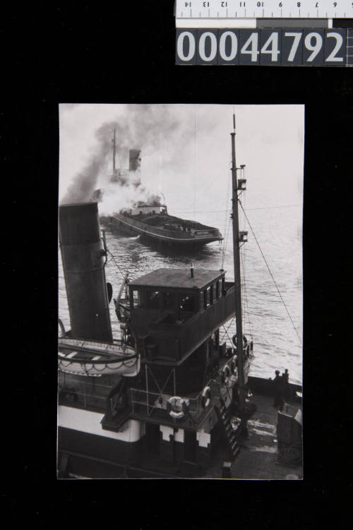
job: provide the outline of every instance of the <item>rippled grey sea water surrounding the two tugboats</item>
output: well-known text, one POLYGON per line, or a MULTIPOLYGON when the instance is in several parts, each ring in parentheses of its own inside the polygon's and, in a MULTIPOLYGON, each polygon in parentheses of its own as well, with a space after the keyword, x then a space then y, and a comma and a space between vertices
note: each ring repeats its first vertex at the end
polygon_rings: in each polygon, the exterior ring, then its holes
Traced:
MULTIPOLYGON (((174 215, 174 212, 170 214, 174 215)), ((210 210, 201 212, 196 217, 188 217, 179 212, 175 212, 175 215, 219 228, 224 241, 209 243, 193 253, 173 252, 156 250, 142 243, 139 237, 119 237, 106 231, 109 249, 106 277, 107 282, 112 284, 114 298, 126 272, 130 279, 136 279, 158 268, 189 268, 193 263, 195 271, 198 267, 214 270, 223 268, 226 271, 226 281, 234 279, 229 212, 210 210)), ((270 378, 274 377, 275 370, 282 372, 287 368, 290 382, 301 383, 301 206, 246 210, 251 227, 241 210, 239 217, 240 229, 248 231, 248 241, 241 246, 241 283, 243 332, 254 344, 251 375, 270 378)), ((120 323, 116 318, 113 302, 110 303, 110 315, 114 338, 119 338, 120 323)), ((69 329, 60 257, 59 318, 66 330, 69 329)), ((222 342, 227 341, 230 345, 235 331, 235 320, 232 319, 220 330, 222 342)))

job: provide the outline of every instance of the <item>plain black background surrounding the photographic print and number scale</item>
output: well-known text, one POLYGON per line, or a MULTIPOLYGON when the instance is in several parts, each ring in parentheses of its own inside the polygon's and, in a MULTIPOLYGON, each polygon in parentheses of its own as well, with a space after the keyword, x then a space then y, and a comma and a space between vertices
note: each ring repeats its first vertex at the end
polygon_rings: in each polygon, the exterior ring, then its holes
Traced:
POLYGON ((13 185, 4 191, 3 239, 11 346, 2 351, 11 526, 20 517, 27 523, 19 527, 72 528, 96 517, 104 529, 143 530, 177 521, 191 529, 345 524, 352 70, 175 66, 168 1, 13 8, 2 26, 2 175, 13 185), (60 102, 305 104, 304 481, 56 481, 60 102))

